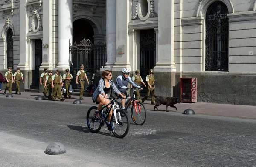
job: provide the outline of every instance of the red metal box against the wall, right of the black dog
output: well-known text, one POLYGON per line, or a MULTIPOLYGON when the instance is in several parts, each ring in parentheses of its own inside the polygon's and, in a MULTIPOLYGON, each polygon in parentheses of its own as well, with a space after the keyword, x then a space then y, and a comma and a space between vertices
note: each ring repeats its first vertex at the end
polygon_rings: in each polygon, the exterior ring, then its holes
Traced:
POLYGON ((197 79, 180 78, 181 102, 197 102, 197 79))

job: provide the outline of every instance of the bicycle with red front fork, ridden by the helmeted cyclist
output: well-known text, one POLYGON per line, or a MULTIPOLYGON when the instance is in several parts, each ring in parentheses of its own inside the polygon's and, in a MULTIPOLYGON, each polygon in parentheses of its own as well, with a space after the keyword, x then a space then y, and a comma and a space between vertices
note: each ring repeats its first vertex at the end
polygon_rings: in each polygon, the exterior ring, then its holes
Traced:
MULTIPOLYGON (((125 109, 127 110, 129 107, 129 104, 132 103, 131 107, 131 119, 136 125, 143 125, 146 121, 147 117, 147 110, 145 106, 139 102, 138 99, 135 98, 135 92, 138 90, 137 88, 128 88, 128 91, 132 91, 132 96, 128 97, 128 99, 125 102, 125 109)), ((119 108, 122 108, 122 103, 118 102, 119 108)))

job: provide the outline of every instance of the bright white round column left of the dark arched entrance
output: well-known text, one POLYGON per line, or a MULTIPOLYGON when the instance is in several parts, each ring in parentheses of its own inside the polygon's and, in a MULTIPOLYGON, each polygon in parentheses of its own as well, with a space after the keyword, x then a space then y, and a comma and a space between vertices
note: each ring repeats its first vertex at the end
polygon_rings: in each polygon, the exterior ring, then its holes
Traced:
POLYGON ((58 0, 58 69, 69 68, 69 41, 72 43, 73 1, 58 0))

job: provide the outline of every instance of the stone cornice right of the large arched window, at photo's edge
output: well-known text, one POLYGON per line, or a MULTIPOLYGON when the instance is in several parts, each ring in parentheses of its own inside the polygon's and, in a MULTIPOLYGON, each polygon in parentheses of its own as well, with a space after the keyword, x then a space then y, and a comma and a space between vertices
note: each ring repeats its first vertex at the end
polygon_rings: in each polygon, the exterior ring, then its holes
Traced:
POLYGON ((256 11, 231 13, 227 14, 227 17, 229 18, 229 22, 256 20, 256 11))

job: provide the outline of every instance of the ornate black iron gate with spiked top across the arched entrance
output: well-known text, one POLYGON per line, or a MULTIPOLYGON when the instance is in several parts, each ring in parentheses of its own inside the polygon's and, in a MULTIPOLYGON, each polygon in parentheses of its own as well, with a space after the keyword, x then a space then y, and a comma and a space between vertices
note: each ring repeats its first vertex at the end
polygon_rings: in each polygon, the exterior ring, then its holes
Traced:
MULTIPOLYGON (((89 39, 83 39, 80 44, 76 42, 70 44, 70 73, 73 75, 72 79, 73 88, 79 87, 76 85, 76 74, 80 70, 80 65, 84 64, 84 70, 88 79, 91 79, 96 69, 105 66, 107 62, 107 47, 106 44, 98 42, 94 45, 89 39)), ((85 88, 87 88, 87 82, 85 82, 85 88)))

